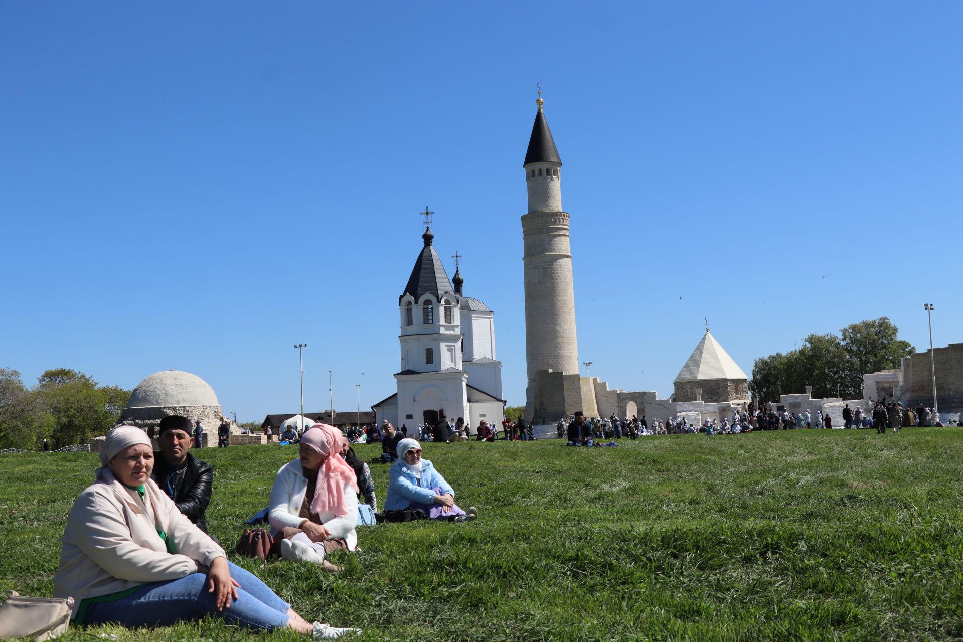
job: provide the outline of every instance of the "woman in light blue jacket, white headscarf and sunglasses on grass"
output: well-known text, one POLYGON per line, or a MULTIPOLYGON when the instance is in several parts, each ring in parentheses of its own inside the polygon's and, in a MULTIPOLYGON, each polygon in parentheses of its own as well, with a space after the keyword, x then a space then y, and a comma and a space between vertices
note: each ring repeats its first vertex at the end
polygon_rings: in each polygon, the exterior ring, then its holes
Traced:
POLYGON ((408 508, 424 513, 432 520, 469 522, 476 519, 478 508, 471 506, 467 511, 458 508, 452 485, 421 455, 421 446, 415 440, 403 439, 398 443, 398 461, 388 471, 385 519, 391 521, 391 511, 408 508))

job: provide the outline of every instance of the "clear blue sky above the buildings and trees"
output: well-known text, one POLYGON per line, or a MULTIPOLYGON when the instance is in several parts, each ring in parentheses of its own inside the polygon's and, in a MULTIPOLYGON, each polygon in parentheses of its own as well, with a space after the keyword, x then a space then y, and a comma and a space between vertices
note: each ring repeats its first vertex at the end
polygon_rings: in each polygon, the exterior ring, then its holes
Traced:
POLYGON ((421 247, 465 258, 525 398, 534 86, 580 360, 671 393, 888 316, 963 341, 957 2, 0 1, 0 367, 195 372, 239 421, 394 392, 421 247), (363 374, 362 374, 363 372, 363 374))

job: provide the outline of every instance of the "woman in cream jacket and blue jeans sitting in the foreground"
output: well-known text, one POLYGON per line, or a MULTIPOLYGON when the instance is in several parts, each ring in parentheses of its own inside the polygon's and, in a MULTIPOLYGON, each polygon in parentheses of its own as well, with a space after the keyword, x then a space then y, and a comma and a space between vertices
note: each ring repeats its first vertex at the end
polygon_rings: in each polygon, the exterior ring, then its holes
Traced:
POLYGON ((147 434, 122 425, 104 441, 96 481, 74 501, 54 596, 76 601, 78 625, 167 627, 211 615, 247 629, 330 639, 358 629, 309 624, 191 523, 150 478, 147 434))

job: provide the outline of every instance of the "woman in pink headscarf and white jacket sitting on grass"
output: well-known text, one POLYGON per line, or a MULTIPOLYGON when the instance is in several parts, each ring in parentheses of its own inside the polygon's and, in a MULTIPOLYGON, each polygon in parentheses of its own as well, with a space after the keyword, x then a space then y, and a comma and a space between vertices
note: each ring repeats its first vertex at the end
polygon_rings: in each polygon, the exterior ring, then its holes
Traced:
POLYGON ((277 472, 268 521, 277 551, 288 560, 317 564, 330 573, 341 569, 325 554, 357 547, 357 480, 338 454, 345 438, 327 424, 301 435, 298 459, 277 472))

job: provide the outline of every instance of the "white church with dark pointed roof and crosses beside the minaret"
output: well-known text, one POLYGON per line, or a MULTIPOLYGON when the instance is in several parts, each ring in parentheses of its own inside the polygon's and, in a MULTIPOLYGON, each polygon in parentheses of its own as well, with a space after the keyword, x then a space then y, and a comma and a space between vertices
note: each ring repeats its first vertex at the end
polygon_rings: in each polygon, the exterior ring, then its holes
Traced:
POLYGON ((502 362, 495 359, 494 313, 462 295, 460 269, 450 281, 426 226, 425 246, 399 297, 398 392, 372 406, 377 424, 387 420, 413 435, 419 424, 464 418, 472 433, 481 421, 501 425, 502 362), (454 287, 452 283, 454 282, 454 287))

